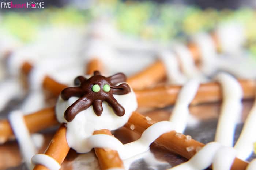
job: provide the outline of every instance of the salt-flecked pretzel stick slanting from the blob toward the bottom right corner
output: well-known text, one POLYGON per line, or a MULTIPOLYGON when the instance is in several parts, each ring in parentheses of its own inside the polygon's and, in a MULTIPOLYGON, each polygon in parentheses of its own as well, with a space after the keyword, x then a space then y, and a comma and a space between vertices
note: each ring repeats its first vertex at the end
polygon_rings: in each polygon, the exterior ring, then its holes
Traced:
MULTIPOLYGON (((133 125, 133 131, 141 135, 144 130, 156 122, 157 121, 154 120, 147 120, 145 116, 139 114, 138 112, 133 112, 128 122, 125 124, 125 127, 130 129, 131 125, 133 125)), ((176 133, 176 131, 170 131, 162 134, 158 139, 155 140, 155 143, 159 146, 165 147, 172 153, 181 155, 187 159, 193 157, 193 155, 196 154, 196 150, 204 146, 203 143, 200 143, 194 139, 188 140, 186 135, 176 133)), ((247 162, 235 158, 231 170, 245 170, 246 166, 248 166, 247 162)))

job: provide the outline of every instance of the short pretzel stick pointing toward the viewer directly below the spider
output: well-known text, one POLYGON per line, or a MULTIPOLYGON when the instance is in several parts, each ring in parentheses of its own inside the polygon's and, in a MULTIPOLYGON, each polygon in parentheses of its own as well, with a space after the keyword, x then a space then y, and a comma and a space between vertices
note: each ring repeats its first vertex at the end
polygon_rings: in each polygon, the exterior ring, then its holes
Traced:
MULTIPOLYGON (((93 134, 112 135, 108 129, 96 130, 93 134)), ((95 148, 94 150, 96 156, 98 157, 101 170, 107 170, 110 168, 124 168, 123 161, 120 159, 117 151, 108 148, 95 148)))

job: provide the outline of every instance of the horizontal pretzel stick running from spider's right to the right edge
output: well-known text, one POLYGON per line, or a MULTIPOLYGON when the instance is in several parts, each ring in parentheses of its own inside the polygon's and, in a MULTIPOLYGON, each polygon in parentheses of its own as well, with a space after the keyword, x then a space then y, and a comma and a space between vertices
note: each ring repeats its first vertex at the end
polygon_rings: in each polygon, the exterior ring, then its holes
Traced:
MULTIPOLYGON (((256 82, 254 80, 238 80, 243 90, 243 99, 255 98, 256 82)), ((182 86, 161 86, 152 89, 135 90, 139 107, 165 107, 173 105, 182 86), (150 99, 150 100, 149 100, 150 99)), ((221 86, 216 83, 200 84, 191 104, 217 102, 222 99, 221 86)))

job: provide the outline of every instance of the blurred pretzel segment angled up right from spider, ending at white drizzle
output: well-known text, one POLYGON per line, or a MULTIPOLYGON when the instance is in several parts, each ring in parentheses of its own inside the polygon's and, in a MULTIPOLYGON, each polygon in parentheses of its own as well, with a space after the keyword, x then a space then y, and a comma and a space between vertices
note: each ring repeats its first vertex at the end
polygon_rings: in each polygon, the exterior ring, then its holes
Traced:
POLYGON ((134 89, 142 89, 163 80, 165 76, 165 66, 158 60, 145 70, 129 77, 127 83, 134 89))

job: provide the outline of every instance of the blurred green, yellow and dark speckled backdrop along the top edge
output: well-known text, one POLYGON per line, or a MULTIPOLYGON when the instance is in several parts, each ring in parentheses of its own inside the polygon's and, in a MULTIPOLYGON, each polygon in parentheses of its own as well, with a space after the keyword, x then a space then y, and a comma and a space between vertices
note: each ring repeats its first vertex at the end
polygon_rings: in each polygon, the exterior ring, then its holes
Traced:
MULTIPOLYGON (((2 0, 1 2, 8 2, 2 0)), ((27 3, 26 0, 14 3, 27 3)), ((0 29, 23 42, 37 38, 45 27, 87 27, 98 17, 108 17, 124 34, 147 40, 185 41, 211 31, 220 23, 244 25, 246 49, 256 53, 254 0, 44 0, 44 8, 0 8, 0 29)))

